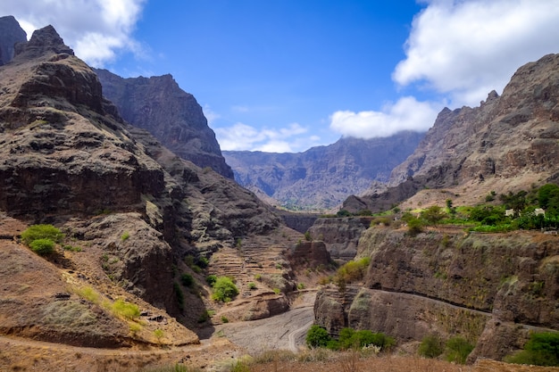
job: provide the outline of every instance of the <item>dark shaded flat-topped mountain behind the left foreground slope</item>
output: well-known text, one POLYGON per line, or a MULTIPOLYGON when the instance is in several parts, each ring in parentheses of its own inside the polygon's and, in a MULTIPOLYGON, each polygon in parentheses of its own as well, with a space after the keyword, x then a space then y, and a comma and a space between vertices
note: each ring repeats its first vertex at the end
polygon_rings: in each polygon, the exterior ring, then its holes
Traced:
POLYGON ((202 107, 171 75, 123 79, 108 70, 95 71, 103 95, 118 107, 124 120, 146 129, 182 159, 233 178, 202 107))

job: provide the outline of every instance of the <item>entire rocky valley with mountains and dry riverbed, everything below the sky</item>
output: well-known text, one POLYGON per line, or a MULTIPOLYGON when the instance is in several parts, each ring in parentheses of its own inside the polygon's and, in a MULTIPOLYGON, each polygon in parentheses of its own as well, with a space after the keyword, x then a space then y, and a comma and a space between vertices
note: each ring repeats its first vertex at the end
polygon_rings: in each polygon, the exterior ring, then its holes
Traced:
POLYGON ((252 163, 171 75, 93 70, 52 26, 13 54, 0 369, 557 370, 504 361, 559 330, 559 54, 426 134, 252 163))

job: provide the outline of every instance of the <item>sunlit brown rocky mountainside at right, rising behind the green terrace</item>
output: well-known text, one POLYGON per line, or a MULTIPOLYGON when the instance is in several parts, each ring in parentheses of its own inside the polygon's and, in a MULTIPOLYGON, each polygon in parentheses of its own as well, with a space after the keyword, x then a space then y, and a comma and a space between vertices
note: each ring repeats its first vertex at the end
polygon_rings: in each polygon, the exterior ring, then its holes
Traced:
POLYGON ((345 208, 380 211, 425 188, 445 189, 456 203, 479 203, 491 191, 556 181, 558 97, 559 54, 522 66, 501 96, 491 92, 479 107, 440 112, 413 154, 392 171, 388 191, 351 197, 345 208))

